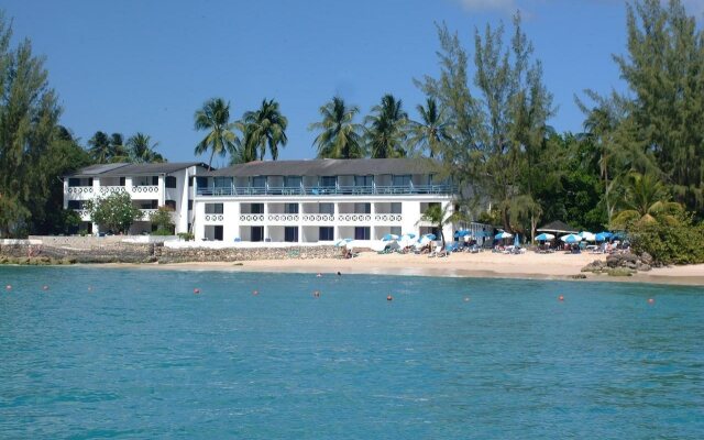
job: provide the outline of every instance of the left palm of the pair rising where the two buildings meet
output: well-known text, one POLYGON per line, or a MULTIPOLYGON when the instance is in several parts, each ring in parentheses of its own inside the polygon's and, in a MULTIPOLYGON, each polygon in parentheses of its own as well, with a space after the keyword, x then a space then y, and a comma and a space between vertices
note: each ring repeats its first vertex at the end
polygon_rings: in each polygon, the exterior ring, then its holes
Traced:
POLYGON ((196 145, 195 154, 204 154, 210 150, 208 167, 212 165, 212 157, 218 154, 224 156, 237 151, 240 140, 232 131, 234 124, 230 122, 230 102, 222 98, 206 101, 195 114, 196 130, 207 130, 208 134, 196 145))

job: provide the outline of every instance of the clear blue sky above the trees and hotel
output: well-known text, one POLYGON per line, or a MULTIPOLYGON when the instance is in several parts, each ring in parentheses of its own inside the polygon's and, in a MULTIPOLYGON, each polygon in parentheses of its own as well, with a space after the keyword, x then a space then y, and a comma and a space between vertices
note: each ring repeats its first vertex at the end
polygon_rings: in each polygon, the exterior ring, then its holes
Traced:
MULTIPOLYGON (((685 3, 704 14, 704 0, 685 3)), ((415 119, 425 98, 413 79, 439 73, 436 23, 457 31, 473 56, 474 30, 508 25, 517 9, 558 131, 581 131, 575 95, 625 88, 612 59, 626 48, 619 0, 6 0, 0 8, 14 41, 28 37, 45 56, 62 124, 84 145, 98 130, 143 132, 170 162, 207 161, 194 156, 205 135, 194 113, 212 97, 230 102, 233 119, 277 100, 288 118, 279 160, 315 157, 308 125, 336 95, 363 117, 393 94, 415 119)))

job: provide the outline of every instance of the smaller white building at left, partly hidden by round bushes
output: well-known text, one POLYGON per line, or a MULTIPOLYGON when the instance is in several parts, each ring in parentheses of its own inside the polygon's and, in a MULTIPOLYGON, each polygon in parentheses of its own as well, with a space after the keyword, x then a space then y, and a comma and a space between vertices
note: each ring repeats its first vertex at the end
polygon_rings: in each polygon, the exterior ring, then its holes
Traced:
POLYGON ((198 162, 91 165, 64 178, 64 209, 79 213, 80 230, 96 233, 98 227, 90 221, 86 201, 128 193, 132 204, 142 210, 142 219, 132 226, 130 233, 150 232, 150 215, 161 206, 173 209, 176 233, 188 232, 194 217, 193 176, 206 170, 207 165, 198 162))

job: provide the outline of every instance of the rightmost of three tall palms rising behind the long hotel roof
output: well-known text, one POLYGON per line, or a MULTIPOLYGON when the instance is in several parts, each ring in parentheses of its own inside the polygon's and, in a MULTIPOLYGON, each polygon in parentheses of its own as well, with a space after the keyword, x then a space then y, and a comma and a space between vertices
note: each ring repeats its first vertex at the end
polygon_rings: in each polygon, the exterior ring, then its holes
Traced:
POLYGON ((433 98, 426 100, 426 107, 416 107, 420 121, 409 122, 410 139, 408 144, 411 147, 419 146, 428 152, 430 157, 436 157, 442 152, 442 146, 450 141, 450 123, 444 117, 444 111, 438 109, 438 101, 433 98))

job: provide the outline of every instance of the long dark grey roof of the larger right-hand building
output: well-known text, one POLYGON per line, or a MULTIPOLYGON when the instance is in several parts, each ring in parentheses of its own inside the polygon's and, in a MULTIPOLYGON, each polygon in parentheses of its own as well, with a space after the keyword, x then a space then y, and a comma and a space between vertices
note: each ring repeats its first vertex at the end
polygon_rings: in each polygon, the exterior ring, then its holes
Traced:
POLYGON ((439 172, 428 158, 320 158, 308 161, 255 161, 220 168, 205 176, 345 176, 427 174, 439 172))

